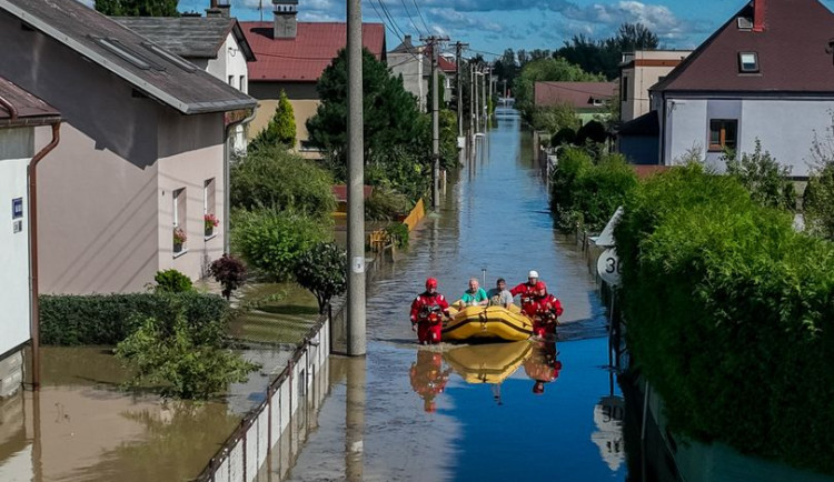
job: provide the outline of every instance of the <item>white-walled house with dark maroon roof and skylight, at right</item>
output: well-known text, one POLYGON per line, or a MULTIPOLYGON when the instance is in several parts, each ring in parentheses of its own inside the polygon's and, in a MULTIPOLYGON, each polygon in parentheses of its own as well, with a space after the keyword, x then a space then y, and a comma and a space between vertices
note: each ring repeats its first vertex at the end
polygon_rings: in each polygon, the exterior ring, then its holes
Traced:
POLYGON ((794 178, 807 178, 815 135, 833 124, 832 36, 834 13, 818 0, 746 2, 651 88, 659 163, 695 148, 721 170, 725 149, 753 152, 758 139, 794 178))

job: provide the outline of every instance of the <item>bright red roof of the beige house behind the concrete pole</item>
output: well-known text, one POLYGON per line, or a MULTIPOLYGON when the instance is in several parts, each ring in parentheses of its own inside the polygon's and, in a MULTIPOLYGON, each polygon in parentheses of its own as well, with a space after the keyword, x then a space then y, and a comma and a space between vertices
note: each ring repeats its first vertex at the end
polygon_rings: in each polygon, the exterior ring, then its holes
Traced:
MULTIPOLYGON (((316 82, 342 49, 344 22, 298 22, 295 39, 272 39, 272 22, 240 22, 257 60, 249 63, 249 80, 316 82)), ((385 54, 385 26, 363 24, 363 46, 377 59, 385 54)))

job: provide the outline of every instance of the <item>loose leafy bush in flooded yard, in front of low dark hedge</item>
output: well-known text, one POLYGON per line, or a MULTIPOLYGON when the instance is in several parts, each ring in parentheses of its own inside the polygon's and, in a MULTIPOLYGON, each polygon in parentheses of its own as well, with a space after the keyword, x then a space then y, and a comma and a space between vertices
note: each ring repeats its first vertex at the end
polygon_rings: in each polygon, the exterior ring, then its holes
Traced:
POLYGON ((158 386, 162 396, 208 400, 258 369, 219 343, 202 343, 182 312, 172 324, 150 317, 139 324, 118 344, 116 355, 136 366, 132 384, 158 386))

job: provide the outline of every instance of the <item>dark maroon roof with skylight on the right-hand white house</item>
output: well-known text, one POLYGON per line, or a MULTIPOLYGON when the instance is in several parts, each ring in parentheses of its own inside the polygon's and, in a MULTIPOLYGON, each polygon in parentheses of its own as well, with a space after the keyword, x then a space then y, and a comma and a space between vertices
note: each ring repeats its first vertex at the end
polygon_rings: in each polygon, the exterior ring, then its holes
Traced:
POLYGON ((790 91, 834 93, 834 62, 826 50, 834 13, 817 0, 765 0, 763 32, 739 30, 753 19, 745 6, 653 91, 790 91), (758 73, 738 72, 738 53, 756 52, 758 73))

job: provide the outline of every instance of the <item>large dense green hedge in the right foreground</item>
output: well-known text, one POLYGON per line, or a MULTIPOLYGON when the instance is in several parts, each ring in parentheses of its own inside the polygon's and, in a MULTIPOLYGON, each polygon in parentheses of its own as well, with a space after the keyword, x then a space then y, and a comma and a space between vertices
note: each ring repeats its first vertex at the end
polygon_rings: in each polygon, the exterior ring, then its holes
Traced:
POLYGON ((642 184, 615 237, 628 345, 673 431, 834 472, 834 244, 698 165, 642 184))

